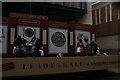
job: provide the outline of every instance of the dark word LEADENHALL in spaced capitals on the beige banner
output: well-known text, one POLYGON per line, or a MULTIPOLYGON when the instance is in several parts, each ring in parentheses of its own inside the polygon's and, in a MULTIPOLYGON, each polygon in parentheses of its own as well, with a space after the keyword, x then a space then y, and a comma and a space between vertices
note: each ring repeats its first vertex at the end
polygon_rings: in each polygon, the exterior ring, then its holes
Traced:
POLYGON ((47 69, 47 68, 74 68, 82 66, 81 62, 64 62, 64 63, 39 63, 23 64, 23 69, 47 69))

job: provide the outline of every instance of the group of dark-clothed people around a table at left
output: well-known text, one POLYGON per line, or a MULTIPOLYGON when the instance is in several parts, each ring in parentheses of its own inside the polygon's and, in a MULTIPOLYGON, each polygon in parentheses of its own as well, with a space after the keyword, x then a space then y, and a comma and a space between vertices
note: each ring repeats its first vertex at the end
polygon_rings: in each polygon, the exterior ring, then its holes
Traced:
POLYGON ((21 36, 18 35, 13 44, 13 53, 15 56, 43 56, 43 51, 41 53, 42 48, 40 38, 33 37, 30 41, 27 41, 26 39, 21 38, 21 36), (29 51, 29 53, 27 53, 27 50, 29 51))

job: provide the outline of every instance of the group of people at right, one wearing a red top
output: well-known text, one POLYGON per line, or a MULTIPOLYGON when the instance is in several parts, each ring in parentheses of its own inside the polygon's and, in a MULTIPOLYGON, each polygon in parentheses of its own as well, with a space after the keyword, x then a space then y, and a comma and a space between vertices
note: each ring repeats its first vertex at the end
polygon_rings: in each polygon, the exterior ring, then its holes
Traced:
POLYGON ((90 44, 83 44, 82 39, 80 39, 77 44, 77 55, 78 56, 95 56, 99 51, 98 45, 94 40, 90 44))

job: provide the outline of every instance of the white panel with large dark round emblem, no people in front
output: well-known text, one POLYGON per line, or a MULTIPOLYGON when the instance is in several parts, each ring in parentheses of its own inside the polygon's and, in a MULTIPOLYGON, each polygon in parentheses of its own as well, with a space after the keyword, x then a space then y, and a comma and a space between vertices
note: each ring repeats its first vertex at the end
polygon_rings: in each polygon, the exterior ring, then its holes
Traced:
POLYGON ((49 28, 48 53, 68 53, 68 31, 66 29, 49 28))

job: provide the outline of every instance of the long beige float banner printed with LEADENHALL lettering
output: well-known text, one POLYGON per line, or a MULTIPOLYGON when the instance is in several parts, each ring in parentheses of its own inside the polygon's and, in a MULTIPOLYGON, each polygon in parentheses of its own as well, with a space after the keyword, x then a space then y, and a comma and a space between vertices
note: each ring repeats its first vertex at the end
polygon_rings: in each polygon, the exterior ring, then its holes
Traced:
POLYGON ((4 58, 3 77, 116 69, 118 64, 118 56, 4 58))

